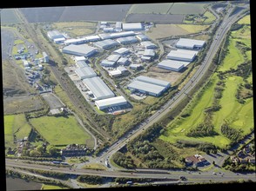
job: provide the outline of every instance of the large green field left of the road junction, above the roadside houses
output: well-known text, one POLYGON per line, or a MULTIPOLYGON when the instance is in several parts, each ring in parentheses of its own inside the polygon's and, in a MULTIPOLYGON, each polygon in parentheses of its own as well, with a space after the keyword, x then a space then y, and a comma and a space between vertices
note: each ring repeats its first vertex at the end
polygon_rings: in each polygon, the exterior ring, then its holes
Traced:
POLYGON ((42 116, 30 119, 30 122, 51 145, 85 144, 91 138, 71 115, 42 116))

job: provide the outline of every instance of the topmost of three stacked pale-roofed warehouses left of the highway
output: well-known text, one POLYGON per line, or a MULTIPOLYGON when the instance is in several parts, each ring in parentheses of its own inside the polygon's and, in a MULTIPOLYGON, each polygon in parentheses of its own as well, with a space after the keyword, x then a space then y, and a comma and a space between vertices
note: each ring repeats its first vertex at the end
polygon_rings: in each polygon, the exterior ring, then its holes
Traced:
POLYGON ((189 38, 180 38, 176 47, 179 49, 201 49, 205 46, 205 41, 189 38))

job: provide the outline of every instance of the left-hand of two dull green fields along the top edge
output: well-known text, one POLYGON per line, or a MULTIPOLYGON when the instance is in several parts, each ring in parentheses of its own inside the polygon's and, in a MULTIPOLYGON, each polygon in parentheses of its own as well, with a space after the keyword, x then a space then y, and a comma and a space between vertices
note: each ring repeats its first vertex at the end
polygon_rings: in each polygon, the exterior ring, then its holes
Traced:
POLYGON ((167 14, 173 3, 146 3, 133 4, 129 10, 130 14, 167 14))

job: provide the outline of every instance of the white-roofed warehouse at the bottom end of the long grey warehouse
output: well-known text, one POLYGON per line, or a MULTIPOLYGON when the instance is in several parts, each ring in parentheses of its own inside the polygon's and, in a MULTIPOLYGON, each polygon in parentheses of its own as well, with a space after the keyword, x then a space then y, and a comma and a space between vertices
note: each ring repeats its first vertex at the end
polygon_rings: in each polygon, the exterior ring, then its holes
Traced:
POLYGON ((95 102, 95 105, 100 110, 114 107, 114 106, 123 106, 126 104, 127 104, 127 101, 125 100, 124 96, 111 97, 104 100, 98 100, 95 102))

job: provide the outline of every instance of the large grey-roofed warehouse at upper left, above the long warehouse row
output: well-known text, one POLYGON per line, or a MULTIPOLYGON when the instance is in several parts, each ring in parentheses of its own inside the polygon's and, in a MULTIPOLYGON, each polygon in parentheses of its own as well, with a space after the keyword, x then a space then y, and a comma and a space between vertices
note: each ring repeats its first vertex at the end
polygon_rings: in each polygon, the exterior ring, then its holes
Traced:
POLYGON ((79 45, 71 44, 71 45, 65 46, 64 49, 62 49, 62 52, 65 54, 70 54, 74 56, 90 57, 96 54, 98 50, 87 44, 79 44, 79 45))

